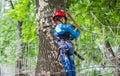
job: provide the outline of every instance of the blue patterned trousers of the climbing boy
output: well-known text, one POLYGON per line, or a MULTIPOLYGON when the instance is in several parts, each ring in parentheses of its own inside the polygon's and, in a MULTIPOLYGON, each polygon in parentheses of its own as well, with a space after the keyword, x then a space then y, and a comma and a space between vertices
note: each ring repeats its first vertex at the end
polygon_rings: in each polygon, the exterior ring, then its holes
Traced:
POLYGON ((58 42, 60 49, 60 59, 64 66, 67 76, 76 76, 76 67, 74 62, 74 47, 71 41, 58 42))

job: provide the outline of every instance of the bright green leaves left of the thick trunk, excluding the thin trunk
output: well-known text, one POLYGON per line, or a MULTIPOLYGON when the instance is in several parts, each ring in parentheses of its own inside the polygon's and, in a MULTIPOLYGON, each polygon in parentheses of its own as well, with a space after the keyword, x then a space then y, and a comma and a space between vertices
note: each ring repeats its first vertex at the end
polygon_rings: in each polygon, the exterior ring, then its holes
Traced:
POLYGON ((13 4, 14 9, 6 9, 0 22, 0 62, 13 62, 17 59, 18 21, 23 21, 21 41, 25 49, 24 54, 29 53, 29 55, 26 55, 29 57, 37 55, 35 2, 33 0, 18 0, 17 2, 13 1, 13 4), (27 47, 30 48, 27 49, 27 47))

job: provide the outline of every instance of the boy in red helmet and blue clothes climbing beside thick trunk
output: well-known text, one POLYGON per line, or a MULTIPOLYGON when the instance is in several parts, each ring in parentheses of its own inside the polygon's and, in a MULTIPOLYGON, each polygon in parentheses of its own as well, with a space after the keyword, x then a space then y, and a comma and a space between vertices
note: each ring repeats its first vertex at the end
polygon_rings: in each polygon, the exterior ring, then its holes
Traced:
POLYGON ((53 13, 53 21, 56 24, 54 28, 54 35, 60 47, 59 57, 62 61, 67 76, 76 76, 76 69, 74 63, 74 46, 73 39, 80 35, 80 31, 73 25, 67 25, 66 13, 61 10, 56 10, 53 13), (75 31, 76 29, 76 31, 75 31))

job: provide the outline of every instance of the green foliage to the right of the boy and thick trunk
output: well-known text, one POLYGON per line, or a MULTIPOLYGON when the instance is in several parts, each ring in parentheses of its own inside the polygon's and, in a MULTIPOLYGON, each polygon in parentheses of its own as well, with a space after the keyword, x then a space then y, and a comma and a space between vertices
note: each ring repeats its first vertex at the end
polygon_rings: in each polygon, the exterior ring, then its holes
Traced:
POLYGON ((117 28, 120 24, 120 1, 67 0, 67 2, 68 10, 81 26, 81 36, 75 42, 77 43, 75 47, 80 49, 79 52, 85 57, 85 61, 81 62, 76 58, 76 65, 101 66, 103 58, 106 58, 105 50, 101 50, 104 41, 109 40, 113 47, 120 44, 120 28, 117 28))

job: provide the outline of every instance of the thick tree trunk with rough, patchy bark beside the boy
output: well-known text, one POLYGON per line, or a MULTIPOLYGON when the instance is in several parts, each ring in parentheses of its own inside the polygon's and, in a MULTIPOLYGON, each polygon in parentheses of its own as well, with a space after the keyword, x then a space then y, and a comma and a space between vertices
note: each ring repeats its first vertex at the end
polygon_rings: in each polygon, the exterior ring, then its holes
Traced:
POLYGON ((52 13, 55 9, 64 10, 64 0, 36 0, 39 54, 35 76, 50 73, 51 76, 63 76, 63 67, 57 59, 58 51, 53 36, 52 13))

